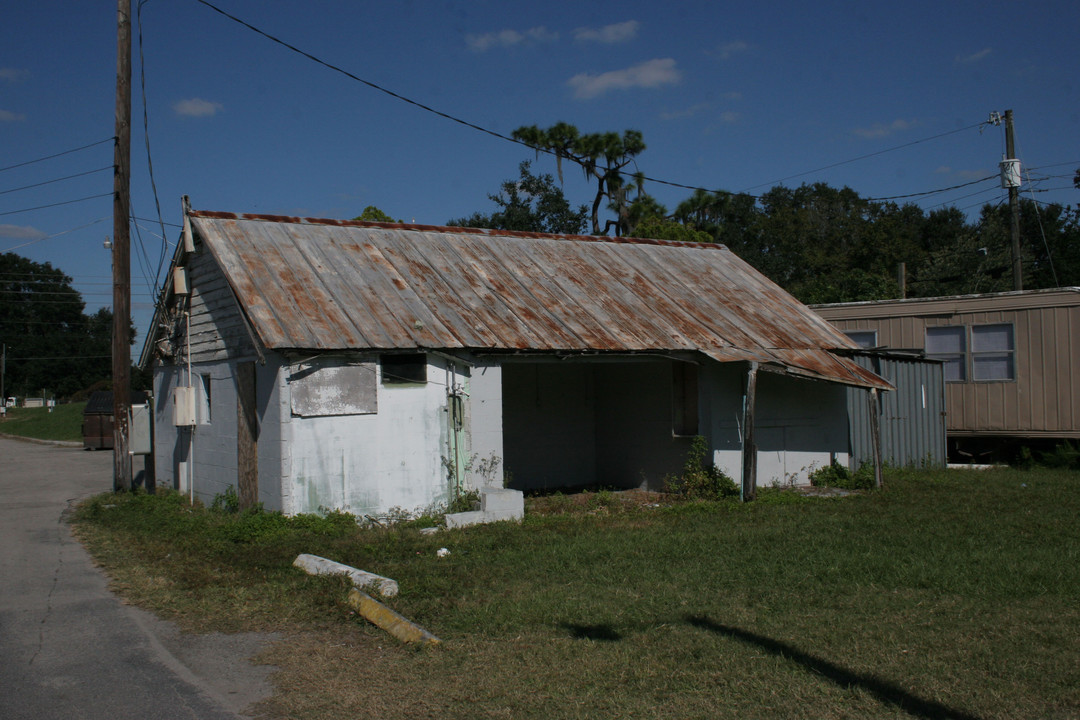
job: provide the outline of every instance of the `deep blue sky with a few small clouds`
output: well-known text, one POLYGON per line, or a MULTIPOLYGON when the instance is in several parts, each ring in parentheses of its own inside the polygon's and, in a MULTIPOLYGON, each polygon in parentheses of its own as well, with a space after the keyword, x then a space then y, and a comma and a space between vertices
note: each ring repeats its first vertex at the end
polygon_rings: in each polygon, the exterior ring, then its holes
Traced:
MULTIPOLYGON (((556 174, 490 134, 523 125, 638 130, 636 169, 656 180, 826 182, 974 217, 1007 196, 1004 126, 986 122, 1011 109, 1023 196, 1080 203, 1075 0, 213 4, 413 103, 199 0, 134 0, 136 356, 183 195, 205 210, 352 218, 375 205, 445 225, 491 212, 487 195, 524 160, 556 174)), ((94 312, 111 303, 117 5, 9 2, 0 19, 0 253, 52 263, 94 312)), ((570 201, 590 202, 565 171, 570 201)), ((670 209, 691 192, 646 190, 670 209)))

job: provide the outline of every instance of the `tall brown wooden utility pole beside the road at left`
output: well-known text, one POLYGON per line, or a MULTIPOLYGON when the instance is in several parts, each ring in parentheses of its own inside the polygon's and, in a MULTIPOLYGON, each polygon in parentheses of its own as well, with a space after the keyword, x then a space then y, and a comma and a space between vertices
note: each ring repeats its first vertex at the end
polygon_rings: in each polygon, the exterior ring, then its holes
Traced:
POLYGON ((117 138, 112 168, 112 489, 132 487, 131 407, 132 3, 117 4, 117 138))

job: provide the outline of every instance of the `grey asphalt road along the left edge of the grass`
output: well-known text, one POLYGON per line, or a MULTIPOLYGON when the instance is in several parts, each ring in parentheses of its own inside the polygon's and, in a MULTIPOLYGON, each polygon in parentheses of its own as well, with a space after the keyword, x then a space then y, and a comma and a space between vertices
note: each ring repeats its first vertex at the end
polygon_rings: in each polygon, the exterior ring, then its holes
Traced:
POLYGON ((109 593, 62 516, 111 489, 111 452, 0 437, 0 718, 243 717, 271 638, 181 635, 109 593))

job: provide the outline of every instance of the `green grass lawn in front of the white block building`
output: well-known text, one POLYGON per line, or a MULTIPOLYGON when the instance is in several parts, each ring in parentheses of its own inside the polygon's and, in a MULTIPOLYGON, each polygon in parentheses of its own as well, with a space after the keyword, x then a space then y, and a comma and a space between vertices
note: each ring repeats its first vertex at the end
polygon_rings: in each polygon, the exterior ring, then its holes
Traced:
POLYGON ((1080 717, 1080 474, 886 480, 746 506, 556 495, 434 535, 108 494, 76 527, 133 602, 283 631, 271 717, 1080 717), (366 625, 301 552, 397 580, 388 604, 443 644, 366 625))

